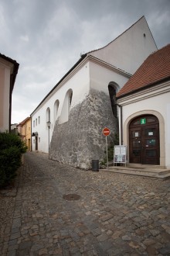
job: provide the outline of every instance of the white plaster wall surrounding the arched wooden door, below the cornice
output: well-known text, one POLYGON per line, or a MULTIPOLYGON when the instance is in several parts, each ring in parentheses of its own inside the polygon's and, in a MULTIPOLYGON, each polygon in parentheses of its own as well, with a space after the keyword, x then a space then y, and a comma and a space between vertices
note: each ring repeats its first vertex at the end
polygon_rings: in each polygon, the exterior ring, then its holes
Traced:
MULTIPOLYGON (((151 114, 159 120, 160 135, 160 165, 170 168, 170 92, 155 95, 150 98, 128 102, 119 99, 117 102, 122 105, 123 120, 123 144, 129 145, 129 124, 134 117, 151 114)), ((129 152, 128 152, 129 155, 129 152)))

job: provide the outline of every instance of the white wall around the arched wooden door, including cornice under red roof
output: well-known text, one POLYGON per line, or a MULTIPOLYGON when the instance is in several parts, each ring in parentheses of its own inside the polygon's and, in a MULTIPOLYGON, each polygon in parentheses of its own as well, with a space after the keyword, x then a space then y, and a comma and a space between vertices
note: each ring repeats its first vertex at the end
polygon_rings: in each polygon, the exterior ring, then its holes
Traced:
MULTIPOLYGON (((159 120, 160 165, 170 168, 170 84, 155 85, 154 88, 136 92, 117 103, 122 106, 123 144, 129 144, 129 124, 136 116, 151 114, 159 120)), ((129 152, 128 152, 129 154, 129 152)))

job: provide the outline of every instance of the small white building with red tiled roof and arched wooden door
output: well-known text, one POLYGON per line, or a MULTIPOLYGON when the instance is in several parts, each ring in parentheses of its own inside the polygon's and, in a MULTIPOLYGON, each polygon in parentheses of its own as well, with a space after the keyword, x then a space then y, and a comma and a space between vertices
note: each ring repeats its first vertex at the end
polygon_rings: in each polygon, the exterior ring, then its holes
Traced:
POLYGON ((117 93, 130 164, 170 168, 170 44, 151 54, 117 93))

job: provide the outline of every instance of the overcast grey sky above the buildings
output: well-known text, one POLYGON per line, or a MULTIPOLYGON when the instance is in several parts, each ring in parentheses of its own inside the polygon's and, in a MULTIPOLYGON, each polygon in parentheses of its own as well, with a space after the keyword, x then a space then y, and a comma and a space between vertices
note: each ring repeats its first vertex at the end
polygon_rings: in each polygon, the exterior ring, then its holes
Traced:
POLYGON ((170 43, 170 0, 0 0, 0 52, 17 61, 12 123, 29 116, 79 60, 145 16, 158 49, 170 43))

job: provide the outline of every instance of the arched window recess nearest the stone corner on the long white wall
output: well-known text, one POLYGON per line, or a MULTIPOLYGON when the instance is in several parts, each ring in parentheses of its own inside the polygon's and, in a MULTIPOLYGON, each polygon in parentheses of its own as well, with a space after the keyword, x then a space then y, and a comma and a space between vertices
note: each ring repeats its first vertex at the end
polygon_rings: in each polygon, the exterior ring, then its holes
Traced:
POLYGON ((72 91, 72 89, 69 89, 66 92, 66 96, 65 96, 65 99, 63 102, 63 108, 61 111, 61 116, 59 118, 59 123, 65 123, 68 121, 72 98, 73 98, 73 91, 72 91))

